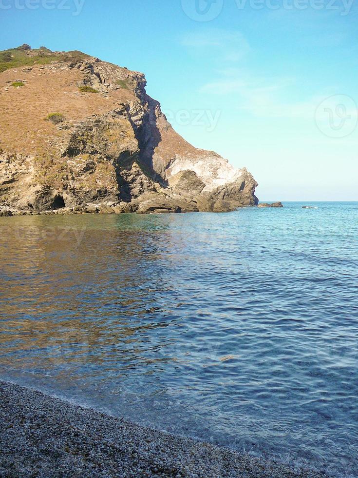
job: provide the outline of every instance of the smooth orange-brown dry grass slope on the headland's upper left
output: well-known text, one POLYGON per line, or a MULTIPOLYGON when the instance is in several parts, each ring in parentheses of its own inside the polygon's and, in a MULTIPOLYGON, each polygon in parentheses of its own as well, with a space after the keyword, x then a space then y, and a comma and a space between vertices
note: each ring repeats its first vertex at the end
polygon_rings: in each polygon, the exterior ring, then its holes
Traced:
POLYGON ((57 113, 70 123, 101 115, 130 99, 129 90, 108 95, 80 92, 83 72, 66 64, 34 65, 0 73, 0 148, 10 153, 41 154, 69 135, 46 121, 57 113), (12 83, 22 81, 24 86, 12 83))

